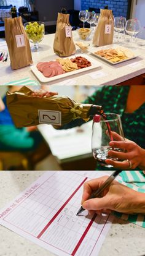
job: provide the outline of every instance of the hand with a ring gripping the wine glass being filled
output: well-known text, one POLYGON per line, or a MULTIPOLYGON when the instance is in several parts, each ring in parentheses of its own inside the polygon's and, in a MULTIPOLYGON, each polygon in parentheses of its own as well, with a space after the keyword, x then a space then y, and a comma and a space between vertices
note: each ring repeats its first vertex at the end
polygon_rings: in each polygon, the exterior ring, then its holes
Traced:
POLYGON ((112 141, 109 143, 112 148, 121 148, 124 152, 109 150, 108 155, 111 158, 118 158, 123 161, 106 160, 107 164, 111 164, 114 168, 135 169, 145 167, 145 150, 139 147, 135 142, 125 139, 125 141, 112 141))

